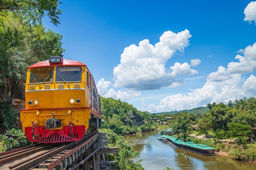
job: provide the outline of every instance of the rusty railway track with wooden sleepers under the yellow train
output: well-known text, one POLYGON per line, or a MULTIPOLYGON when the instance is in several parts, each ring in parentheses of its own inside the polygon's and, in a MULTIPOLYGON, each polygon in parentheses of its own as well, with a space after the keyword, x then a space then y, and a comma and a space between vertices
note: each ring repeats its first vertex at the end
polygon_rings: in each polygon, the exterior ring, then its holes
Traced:
MULTIPOLYGON (((94 132, 81 141, 56 144, 36 144, 4 152, 0 170, 63 170, 78 167, 90 148, 99 150, 101 135, 94 132)), ((90 154, 87 154, 90 157, 90 154)), ((74 169, 74 168, 73 168, 74 169)))

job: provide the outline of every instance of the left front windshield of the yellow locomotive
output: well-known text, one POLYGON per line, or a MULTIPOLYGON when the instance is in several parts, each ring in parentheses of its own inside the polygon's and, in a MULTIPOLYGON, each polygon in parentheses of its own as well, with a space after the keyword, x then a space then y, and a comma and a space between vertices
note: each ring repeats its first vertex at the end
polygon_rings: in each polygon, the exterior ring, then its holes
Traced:
POLYGON ((51 82, 52 75, 53 67, 31 69, 29 83, 51 82))

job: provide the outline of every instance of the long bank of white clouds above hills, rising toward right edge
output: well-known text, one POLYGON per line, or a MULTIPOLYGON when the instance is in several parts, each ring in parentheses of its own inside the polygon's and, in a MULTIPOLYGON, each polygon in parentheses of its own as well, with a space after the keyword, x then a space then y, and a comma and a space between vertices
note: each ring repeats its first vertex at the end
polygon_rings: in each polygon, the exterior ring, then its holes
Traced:
POLYGON ((238 62, 230 62, 227 68, 219 66, 218 71, 210 73, 202 88, 192 89, 187 95, 181 93, 162 99, 158 106, 143 105, 141 110, 163 112, 166 110, 184 110, 203 106, 207 103, 228 103, 243 97, 256 96, 256 77, 247 73, 256 71, 256 43, 240 50, 236 55, 238 62))

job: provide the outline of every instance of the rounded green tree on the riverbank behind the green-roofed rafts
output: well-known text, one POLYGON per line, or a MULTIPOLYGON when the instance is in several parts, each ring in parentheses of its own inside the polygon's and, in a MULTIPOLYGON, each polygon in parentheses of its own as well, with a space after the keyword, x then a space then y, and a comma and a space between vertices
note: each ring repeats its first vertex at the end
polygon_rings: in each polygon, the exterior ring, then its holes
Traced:
POLYGON ((189 114, 185 111, 182 113, 177 113, 173 117, 173 122, 171 124, 172 130, 176 134, 182 134, 184 141, 186 141, 186 137, 189 134, 189 132, 192 131, 192 121, 189 117, 189 114))

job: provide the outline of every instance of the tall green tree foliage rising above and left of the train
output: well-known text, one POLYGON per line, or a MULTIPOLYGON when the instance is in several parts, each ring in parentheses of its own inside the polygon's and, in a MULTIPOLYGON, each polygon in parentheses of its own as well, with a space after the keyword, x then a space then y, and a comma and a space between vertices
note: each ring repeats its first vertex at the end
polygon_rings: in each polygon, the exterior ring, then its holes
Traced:
MULTIPOLYGON (((58 0, 9 1, 0 3, 0 83, 18 82, 26 78, 27 67, 50 56, 60 55, 62 35, 45 31, 41 18, 47 15, 58 23, 58 0)), ((9 83, 10 84, 10 83, 9 83)), ((7 91, 13 92, 11 86, 7 91)), ((2 93, 0 96, 3 95, 2 93)), ((15 95, 15 94, 14 94, 15 95)))

